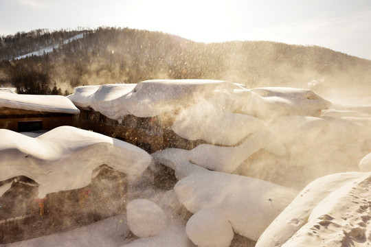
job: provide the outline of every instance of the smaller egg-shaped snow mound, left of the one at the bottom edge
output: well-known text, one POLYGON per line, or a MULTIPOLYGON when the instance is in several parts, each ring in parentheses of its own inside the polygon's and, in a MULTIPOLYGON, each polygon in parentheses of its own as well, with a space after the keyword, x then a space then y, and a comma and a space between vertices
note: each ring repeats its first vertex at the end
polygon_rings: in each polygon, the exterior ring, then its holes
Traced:
POLYGON ((132 200, 126 206, 126 215, 128 226, 137 237, 155 236, 168 226, 164 211, 150 200, 132 200))

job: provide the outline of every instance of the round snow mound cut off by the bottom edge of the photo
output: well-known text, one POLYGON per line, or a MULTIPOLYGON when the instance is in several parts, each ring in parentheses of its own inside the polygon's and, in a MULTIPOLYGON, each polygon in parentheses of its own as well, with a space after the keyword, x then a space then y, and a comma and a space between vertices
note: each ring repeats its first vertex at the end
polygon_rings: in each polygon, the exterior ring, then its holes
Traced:
POLYGON ((188 237, 200 247, 228 247, 234 237, 231 224, 216 209, 201 209, 187 222, 188 237))

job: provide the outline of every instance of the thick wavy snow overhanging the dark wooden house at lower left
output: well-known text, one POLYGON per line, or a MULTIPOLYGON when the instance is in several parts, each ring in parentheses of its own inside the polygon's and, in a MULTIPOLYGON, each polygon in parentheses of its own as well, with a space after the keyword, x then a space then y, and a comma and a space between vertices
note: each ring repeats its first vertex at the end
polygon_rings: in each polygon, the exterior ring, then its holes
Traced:
POLYGON ((71 126, 36 138, 5 129, 0 136, 0 181, 32 178, 39 184, 40 198, 89 185, 93 169, 103 164, 126 174, 140 174, 152 161, 135 145, 71 126))

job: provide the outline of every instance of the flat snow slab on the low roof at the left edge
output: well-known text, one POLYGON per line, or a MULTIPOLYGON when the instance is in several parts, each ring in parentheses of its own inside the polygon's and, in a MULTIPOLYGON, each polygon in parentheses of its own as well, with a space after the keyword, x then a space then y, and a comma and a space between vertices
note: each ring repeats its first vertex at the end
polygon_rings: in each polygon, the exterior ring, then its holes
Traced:
POLYGON ((80 113, 71 100, 61 95, 19 95, 12 91, 0 91, 1 107, 75 115, 80 113))

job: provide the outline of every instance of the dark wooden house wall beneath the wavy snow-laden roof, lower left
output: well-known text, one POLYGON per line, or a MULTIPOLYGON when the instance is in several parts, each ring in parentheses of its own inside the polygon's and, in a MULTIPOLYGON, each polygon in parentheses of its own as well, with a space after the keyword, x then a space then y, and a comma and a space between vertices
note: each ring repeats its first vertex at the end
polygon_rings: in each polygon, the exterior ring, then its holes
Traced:
POLYGON ((10 181, 0 196, 0 244, 41 237, 125 213, 127 175, 102 165, 81 189, 49 193, 38 199, 38 185, 27 177, 10 181))

